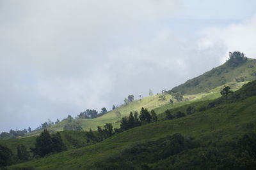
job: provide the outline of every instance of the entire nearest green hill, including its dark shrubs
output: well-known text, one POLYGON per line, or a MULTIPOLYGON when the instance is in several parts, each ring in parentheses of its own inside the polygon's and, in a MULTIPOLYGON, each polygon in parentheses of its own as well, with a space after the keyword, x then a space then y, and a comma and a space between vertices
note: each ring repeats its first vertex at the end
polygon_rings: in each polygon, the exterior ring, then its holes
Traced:
MULTIPOLYGON (((255 92, 256 81, 253 81, 227 98, 198 101, 197 107, 207 108, 196 110, 192 115, 142 125, 95 145, 56 153, 8 169, 218 169, 217 166, 220 169, 252 169, 255 152, 251 146, 255 140, 253 135, 243 135, 256 130, 255 92), (246 144, 247 141, 250 143, 246 144), (241 150, 234 150, 237 147, 244 150, 243 154, 240 154, 241 150), (156 148, 158 155, 154 155, 156 148), (168 148, 179 150, 173 152, 172 149, 169 153, 166 152, 168 148)), ((184 110, 188 106, 171 108, 171 111, 184 110)))

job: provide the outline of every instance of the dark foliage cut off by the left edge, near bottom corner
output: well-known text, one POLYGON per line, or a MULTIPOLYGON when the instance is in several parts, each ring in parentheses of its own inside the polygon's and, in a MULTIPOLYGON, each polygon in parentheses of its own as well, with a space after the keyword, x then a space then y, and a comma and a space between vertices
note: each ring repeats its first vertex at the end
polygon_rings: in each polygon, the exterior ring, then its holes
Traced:
POLYGON ((0 167, 12 164, 12 151, 0 145, 0 167))

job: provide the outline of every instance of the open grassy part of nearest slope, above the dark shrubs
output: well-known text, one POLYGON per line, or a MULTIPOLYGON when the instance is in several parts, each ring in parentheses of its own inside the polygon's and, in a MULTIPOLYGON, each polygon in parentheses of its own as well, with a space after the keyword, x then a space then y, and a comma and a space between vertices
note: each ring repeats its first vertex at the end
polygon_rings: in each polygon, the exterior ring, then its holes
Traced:
MULTIPOLYGON (((201 143, 202 149, 209 145, 215 148, 224 144, 227 145, 241 138, 243 134, 256 130, 256 96, 252 96, 255 95, 252 93, 256 90, 255 84, 254 81, 249 86, 235 92, 236 103, 219 103, 213 108, 197 111, 187 117, 129 129, 95 145, 57 153, 43 159, 31 160, 11 166, 9 169, 14 167, 94 169, 101 162, 114 161, 115 157, 120 155, 119 153, 125 153, 125 148, 132 148, 139 142, 156 141, 177 132, 186 138, 193 138, 196 142, 201 143), (249 90, 244 90, 245 88, 249 90), (252 97, 246 98, 247 95, 252 97), (240 98, 236 96, 240 96, 240 98)), ((201 102, 207 104, 205 101, 201 102)), ((177 109, 175 108, 175 110, 177 109)), ((134 164, 134 166, 136 165, 134 164)))

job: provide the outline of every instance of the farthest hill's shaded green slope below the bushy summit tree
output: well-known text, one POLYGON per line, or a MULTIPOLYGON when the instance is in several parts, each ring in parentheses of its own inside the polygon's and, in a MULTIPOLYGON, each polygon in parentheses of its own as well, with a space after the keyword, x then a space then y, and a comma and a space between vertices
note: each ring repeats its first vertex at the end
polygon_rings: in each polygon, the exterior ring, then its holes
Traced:
POLYGON ((182 94, 198 94, 209 92, 220 85, 230 81, 252 81, 256 80, 256 60, 248 59, 237 66, 232 66, 229 62, 211 69, 206 73, 186 81, 170 92, 181 92, 182 94))

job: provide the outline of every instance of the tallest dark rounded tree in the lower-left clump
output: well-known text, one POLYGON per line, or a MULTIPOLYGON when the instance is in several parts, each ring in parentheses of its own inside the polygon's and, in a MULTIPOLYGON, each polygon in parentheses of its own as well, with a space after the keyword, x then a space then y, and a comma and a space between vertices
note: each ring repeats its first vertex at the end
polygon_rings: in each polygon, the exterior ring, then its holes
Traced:
POLYGON ((54 152, 52 138, 47 129, 44 129, 44 132, 42 132, 36 138, 35 150, 33 150, 33 152, 41 157, 44 157, 48 153, 54 152))

